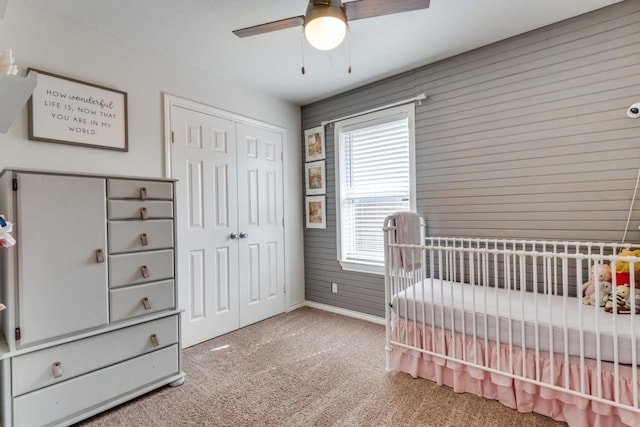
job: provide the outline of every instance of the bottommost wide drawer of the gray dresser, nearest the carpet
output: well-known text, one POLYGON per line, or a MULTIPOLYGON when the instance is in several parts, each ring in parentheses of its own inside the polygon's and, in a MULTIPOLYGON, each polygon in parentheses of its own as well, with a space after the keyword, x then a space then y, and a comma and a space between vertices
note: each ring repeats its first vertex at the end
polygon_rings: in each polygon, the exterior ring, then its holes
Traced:
POLYGON ((60 422, 178 372, 178 346, 172 345, 15 398, 14 425, 33 427, 60 422))

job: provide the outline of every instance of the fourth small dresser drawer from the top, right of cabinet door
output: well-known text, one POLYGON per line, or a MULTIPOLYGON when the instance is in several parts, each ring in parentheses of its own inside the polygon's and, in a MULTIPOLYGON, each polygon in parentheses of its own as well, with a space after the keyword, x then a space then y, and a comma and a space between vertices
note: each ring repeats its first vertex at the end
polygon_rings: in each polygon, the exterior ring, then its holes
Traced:
POLYGON ((173 278, 173 251, 109 255, 109 287, 173 278))

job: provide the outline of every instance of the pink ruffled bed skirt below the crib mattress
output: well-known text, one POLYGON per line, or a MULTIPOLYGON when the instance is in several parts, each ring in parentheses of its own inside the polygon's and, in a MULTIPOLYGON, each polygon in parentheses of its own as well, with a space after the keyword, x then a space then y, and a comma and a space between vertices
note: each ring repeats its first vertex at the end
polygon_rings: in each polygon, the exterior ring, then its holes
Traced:
MULTIPOLYGON (((474 340, 473 337, 467 336, 463 340, 459 333, 443 332, 439 328, 434 330, 429 326, 426 326, 423 331, 421 325, 414 325, 412 322, 406 322, 402 319, 394 320, 392 340, 457 359, 462 359, 464 341, 468 361, 474 360, 474 352, 476 352, 477 364, 508 372, 511 354, 514 374, 526 378, 536 378, 535 350, 526 349, 523 356, 522 349, 519 347, 514 347, 510 351, 507 344, 496 344, 489 341, 488 360, 485 361, 485 341, 483 339, 474 340), (443 333, 444 346, 442 344, 443 333), (435 348, 432 346, 432 334, 435 334, 435 348), (500 366, 498 358, 500 358, 500 366)), ((509 408, 517 409, 520 412, 543 414, 558 421, 565 421, 572 427, 640 426, 640 414, 634 411, 594 402, 525 381, 514 380, 500 374, 489 373, 479 368, 423 354, 416 350, 393 346, 391 366, 394 370, 406 372, 414 378, 426 378, 440 385, 453 387, 453 390, 458 393, 473 393, 477 396, 498 400, 509 408)), ((551 360, 548 353, 541 352, 539 369, 540 381, 562 387, 565 383, 565 371, 568 369, 569 388, 580 390, 579 358, 570 357, 567 366, 564 358, 556 356, 551 360), (554 366, 553 380, 551 379, 552 363, 554 366)), ((617 381, 620 387, 620 402, 628 405, 633 405, 632 375, 632 368, 619 367, 617 381)), ((585 392, 597 396, 598 382, 595 361, 585 360, 585 376, 585 392)), ((640 377, 640 373, 638 376, 640 377)), ((602 398, 613 401, 616 382, 613 364, 602 363, 601 377, 602 398)))

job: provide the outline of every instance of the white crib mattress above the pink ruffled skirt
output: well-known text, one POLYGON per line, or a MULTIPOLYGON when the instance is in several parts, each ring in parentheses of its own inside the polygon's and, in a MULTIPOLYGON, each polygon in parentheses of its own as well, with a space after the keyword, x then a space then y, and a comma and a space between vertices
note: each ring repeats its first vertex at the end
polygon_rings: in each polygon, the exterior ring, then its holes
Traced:
POLYGON ((640 315, 607 313, 580 298, 484 288, 427 278, 392 298, 394 315, 467 336, 585 358, 640 362, 640 315), (566 333, 565 333, 566 325, 566 333), (582 325, 582 326, 581 326, 582 325), (614 346, 614 331, 618 346, 614 346), (635 340, 632 338, 635 335, 635 340), (600 337, 598 346, 597 337, 600 337), (537 337, 537 338, 536 338, 537 337), (582 337, 582 339, 581 339, 582 337), (598 348, 600 356, 598 357, 598 348))

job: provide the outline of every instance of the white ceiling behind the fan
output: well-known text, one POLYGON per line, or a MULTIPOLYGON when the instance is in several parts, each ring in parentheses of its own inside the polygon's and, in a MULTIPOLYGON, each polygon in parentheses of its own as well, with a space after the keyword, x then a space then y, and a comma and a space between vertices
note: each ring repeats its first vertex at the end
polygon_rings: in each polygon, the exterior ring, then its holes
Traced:
POLYGON ((431 0, 429 9, 353 21, 351 74, 348 43, 322 52, 302 42, 300 28, 231 32, 303 15, 307 0, 13 1, 304 105, 621 0, 431 0))

